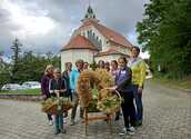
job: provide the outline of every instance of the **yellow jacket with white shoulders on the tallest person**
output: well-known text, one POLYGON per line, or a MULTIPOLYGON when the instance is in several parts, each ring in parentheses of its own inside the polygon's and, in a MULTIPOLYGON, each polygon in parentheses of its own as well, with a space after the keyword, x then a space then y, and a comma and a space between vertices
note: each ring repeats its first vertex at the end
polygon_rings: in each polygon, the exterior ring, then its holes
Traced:
POLYGON ((130 59, 128 66, 132 71, 132 83, 142 87, 145 79, 147 66, 143 59, 137 58, 135 60, 130 59))

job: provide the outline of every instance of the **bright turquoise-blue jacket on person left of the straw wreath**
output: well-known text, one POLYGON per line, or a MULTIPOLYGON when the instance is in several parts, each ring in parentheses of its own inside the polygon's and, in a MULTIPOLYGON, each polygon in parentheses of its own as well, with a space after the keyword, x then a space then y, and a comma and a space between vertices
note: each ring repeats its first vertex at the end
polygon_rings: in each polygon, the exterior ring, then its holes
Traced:
POLYGON ((70 89, 76 90, 77 81, 80 76, 80 71, 72 70, 70 73, 70 89))

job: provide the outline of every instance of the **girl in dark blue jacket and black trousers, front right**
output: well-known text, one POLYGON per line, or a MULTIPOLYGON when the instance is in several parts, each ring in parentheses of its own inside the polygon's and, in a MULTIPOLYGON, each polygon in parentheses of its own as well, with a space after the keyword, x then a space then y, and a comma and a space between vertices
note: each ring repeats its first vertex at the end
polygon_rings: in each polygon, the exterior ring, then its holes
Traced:
POLYGON ((125 130, 120 135, 134 133, 134 123, 135 123, 135 108, 133 103, 133 92, 131 91, 131 70, 127 67, 127 59, 120 57, 118 59, 119 70, 115 76, 115 89, 120 92, 121 97, 124 99, 121 105, 124 120, 125 130))

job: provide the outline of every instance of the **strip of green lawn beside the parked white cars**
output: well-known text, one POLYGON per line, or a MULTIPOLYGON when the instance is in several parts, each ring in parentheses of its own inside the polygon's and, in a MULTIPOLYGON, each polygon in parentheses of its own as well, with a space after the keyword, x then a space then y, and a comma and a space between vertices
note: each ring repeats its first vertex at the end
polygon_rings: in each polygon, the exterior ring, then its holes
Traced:
POLYGON ((13 90, 13 91, 0 91, 2 95, 40 95, 40 89, 27 89, 27 90, 13 90))

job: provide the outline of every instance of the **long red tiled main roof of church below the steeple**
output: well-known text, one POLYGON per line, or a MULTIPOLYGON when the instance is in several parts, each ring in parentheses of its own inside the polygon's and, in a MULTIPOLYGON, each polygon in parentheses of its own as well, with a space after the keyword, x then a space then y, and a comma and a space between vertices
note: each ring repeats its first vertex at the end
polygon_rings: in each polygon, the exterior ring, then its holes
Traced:
POLYGON ((132 47, 131 42, 129 42, 122 34, 98 23, 93 19, 89 19, 84 21, 83 24, 79 29, 83 29, 89 26, 93 26, 96 29, 98 29, 98 31, 100 31, 102 36, 104 36, 107 39, 109 39, 110 41, 114 43, 121 44, 129 49, 132 47))

